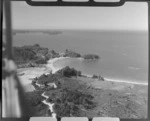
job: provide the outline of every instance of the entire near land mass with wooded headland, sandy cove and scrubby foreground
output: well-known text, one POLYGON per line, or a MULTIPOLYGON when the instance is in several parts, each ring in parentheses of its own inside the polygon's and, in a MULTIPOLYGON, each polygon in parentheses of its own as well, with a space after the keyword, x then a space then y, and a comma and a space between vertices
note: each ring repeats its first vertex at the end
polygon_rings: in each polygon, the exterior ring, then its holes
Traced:
POLYGON ((61 58, 100 57, 71 50, 57 53, 38 44, 14 48, 18 76, 34 116, 147 118, 147 85, 107 81, 69 66, 56 69, 53 62, 61 58))

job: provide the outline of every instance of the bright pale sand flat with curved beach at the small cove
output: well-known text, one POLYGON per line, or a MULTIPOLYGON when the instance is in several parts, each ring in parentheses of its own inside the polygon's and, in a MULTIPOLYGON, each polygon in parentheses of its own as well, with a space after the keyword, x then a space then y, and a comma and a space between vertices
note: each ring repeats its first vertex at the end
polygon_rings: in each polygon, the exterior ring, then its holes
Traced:
POLYGON ((20 79, 20 82, 24 88, 25 92, 33 91, 34 87, 31 82, 35 77, 39 77, 42 74, 48 74, 50 72, 55 73, 61 68, 55 68, 53 63, 57 60, 61 60, 68 57, 59 57, 50 59, 47 64, 43 65, 43 67, 29 67, 29 68, 19 68, 17 69, 17 73, 20 79))

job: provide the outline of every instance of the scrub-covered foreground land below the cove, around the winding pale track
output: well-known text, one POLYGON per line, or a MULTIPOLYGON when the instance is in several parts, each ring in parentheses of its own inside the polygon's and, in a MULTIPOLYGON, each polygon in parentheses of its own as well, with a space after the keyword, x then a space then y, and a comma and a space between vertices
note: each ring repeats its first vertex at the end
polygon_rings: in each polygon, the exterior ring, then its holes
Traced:
POLYGON ((36 91, 26 93, 27 102, 35 109, 35 115, 51 116, 40 102, 41 97, 38 97, 45 92, 49 97, 47 102, 54 103, 57 117, 146 118, 146 86, 108 82, 78 73, 73 68, 65 67, 55 74, 35 78, 32 84, 36 91), (35 83, 44 86, 39 88, 35 83), (52 83, 57 88, 52 87, 52 83))

